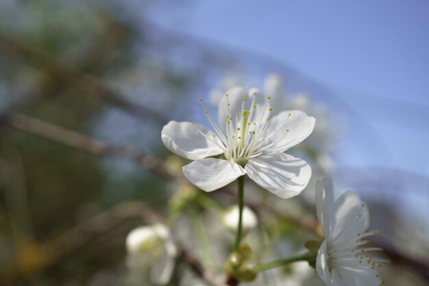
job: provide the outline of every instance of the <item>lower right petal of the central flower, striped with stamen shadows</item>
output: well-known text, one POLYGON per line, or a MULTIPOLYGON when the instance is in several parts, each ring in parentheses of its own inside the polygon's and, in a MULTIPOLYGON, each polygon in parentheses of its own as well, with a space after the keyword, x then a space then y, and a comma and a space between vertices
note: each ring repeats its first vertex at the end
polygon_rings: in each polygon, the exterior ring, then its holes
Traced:
POLYGON ((306 161, 284 153, 252 158, 245 170, 260 187, 284 199, 299 195, 311 177, 306 161))

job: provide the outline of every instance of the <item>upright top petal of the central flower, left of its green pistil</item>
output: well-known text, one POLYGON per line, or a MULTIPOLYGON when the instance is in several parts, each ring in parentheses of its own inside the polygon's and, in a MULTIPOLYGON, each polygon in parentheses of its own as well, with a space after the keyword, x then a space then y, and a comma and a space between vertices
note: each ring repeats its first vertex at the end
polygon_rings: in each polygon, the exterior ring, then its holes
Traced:
POLYGON ((245 98, 247 99, 246 91, 239 86, 230 88, 225 95, 223 95, 217 110, 217 116, 222 130, 225 130, 227 116, 232 116, 234 120, 236 115, 241 117, 241 105, 245 98))

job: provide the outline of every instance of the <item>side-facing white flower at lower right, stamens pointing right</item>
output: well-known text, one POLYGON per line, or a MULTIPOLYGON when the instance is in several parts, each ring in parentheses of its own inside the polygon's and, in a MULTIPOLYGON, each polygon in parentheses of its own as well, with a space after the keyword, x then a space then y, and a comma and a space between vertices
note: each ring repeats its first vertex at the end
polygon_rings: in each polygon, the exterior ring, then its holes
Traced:
POLYGON ((380 248, 365 247, 369 236, 369 210, 355 191, 334 200, 332 180, 322 177, 316 187, 317 217, 325 240, 317 254, 317 274, 328 286, 378 286, 384 259, 373 257, 380 248))

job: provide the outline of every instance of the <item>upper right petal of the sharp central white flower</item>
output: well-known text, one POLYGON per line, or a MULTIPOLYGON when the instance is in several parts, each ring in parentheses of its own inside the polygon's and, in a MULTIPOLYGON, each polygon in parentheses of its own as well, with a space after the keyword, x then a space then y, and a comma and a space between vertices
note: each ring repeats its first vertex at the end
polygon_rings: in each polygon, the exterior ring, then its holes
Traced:
POLYGON ((274 132, 270 141, 276 143, 267 152, 284 152, 302 142, 315 128, 315 121, 315 117, 301 110, 284 110, 275 115, 270 119, 267 134, 274 132))

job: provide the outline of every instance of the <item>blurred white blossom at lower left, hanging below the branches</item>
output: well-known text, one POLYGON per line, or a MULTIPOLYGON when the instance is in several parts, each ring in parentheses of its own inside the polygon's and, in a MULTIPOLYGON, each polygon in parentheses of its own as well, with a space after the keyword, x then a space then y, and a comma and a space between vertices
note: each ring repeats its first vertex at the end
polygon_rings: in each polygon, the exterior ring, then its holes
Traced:
POLYGON ((127 235, 127 266, 132 270, 149 270, 158 285, 169 283, 177 248, 169 229, 162 224, 140 226, 127 235))

